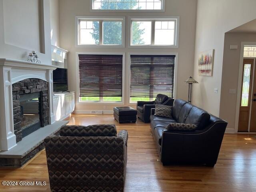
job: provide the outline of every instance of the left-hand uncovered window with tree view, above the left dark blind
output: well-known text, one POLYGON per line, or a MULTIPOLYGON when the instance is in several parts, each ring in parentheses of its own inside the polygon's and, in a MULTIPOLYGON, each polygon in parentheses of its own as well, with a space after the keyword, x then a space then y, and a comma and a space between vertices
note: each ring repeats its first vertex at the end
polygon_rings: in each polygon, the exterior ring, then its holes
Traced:
POLYGON ((124 18, 78 18, 77 46, 124 47, 124 18))

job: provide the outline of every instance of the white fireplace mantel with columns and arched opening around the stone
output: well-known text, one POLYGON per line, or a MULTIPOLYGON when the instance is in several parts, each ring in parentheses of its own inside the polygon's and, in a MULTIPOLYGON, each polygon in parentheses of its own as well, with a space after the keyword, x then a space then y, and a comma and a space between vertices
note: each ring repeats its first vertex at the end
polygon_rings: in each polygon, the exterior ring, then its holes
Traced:
POLYGON ((0 151, 16 146, 14 134, 12 84, 27 78, 48 82, 49 124, 54 123, 52 72, 58 66, 0 58, 0 151))

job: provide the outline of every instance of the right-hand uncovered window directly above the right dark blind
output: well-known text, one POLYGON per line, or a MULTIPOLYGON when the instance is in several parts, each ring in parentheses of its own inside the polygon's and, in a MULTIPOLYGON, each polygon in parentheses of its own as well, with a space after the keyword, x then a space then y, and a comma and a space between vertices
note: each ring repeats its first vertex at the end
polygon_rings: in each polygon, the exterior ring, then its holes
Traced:
POLYGON ((130 18, 130 46, 178 48, 178 19, 130 18))

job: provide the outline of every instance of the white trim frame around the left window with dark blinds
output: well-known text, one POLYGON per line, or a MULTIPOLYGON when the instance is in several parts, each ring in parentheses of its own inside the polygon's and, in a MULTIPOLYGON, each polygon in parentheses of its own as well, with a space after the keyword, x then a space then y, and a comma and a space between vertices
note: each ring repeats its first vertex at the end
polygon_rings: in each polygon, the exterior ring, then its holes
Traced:
POLYGON ((88 104, 124 104, 124 94, 125 94, 125 53, 124 52, 76 52, 76 99, 78 103, 88 103, 88 104), (122 101, 121 102, 101 102, 101 101, 81 101, 79 96, 79 54, 87 55, 122 55, 122 101))

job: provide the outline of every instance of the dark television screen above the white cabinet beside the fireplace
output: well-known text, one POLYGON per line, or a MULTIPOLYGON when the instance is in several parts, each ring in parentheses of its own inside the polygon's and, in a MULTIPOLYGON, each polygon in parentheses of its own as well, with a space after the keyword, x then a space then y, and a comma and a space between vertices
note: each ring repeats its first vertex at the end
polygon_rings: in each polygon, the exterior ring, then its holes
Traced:
POLYGON ((53 91, 68 90, 67 69, 57 68, 53 71, 53 91))

